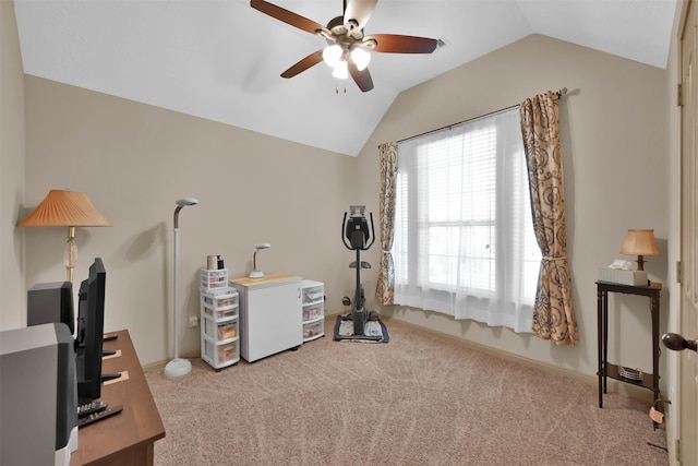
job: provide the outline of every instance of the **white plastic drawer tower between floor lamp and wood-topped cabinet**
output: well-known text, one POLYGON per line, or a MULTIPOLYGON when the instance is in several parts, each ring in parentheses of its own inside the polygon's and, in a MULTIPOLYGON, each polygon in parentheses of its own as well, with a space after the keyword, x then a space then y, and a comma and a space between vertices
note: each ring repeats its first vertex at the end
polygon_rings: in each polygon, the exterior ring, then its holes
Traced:
POLYGON ((216 370, 240 360, 238 310, 234 288, 201 288, 201 358, 216 370))

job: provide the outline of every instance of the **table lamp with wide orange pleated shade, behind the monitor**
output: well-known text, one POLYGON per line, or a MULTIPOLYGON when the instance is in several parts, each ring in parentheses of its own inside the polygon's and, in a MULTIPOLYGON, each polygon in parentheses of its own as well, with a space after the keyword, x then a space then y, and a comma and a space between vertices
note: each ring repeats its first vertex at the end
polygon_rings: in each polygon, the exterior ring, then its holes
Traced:
POLYGON ((73 282, 77 255, 75 227, 110 227, 101 212, 89 202, 84 192, 52 189, 36 208, 20 222, 19 227, 68 227, 65 251, 65 279, 73 282))

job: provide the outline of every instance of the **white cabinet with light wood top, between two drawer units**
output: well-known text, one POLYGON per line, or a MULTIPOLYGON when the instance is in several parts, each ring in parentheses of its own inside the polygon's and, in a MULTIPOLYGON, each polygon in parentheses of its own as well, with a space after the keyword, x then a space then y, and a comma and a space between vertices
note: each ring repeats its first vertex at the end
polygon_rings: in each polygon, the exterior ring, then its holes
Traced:
POLYGON ((303 343, 301 277, 284 274, 230 280, 240 298, 240 355, 249 362, 303 343))

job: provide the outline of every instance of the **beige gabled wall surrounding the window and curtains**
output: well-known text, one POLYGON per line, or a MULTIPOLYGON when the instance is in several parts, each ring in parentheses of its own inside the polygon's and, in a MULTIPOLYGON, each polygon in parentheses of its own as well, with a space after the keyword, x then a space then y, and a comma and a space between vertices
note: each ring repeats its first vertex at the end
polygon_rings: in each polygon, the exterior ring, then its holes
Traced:
MULTIPOLYGON (((667 213, 666 80, 664 70, 533 35, 402 93, 360 154, 361 193, 373 211, 378 205, 378 143, 506 108, 547 89, 569 89, 561 101, 559 116, 568 254, 580 343, 558 347, 530 334, 455 322, 420 310, 383 312, 525 358, 595 374, 594 282, 599 267, 622 258, 618 251, 627 228, 655 229, 663 255, 648 258, 646 268, 651 279, 667 280, 667 238, 675 231, 667 213)), ((377 262, 377 253, 378 248, 372 250, 369 260, 377 262)), ((365 274, 368 289, 375 289, 375 271, 365 274)), ((667 292, 662 306, 664 330, 667 292)), ((613 297, 611 314, 610 357, 651 372, 647 300, 613 297)), ((662 372, 665 369, 663 366, 662 372)))

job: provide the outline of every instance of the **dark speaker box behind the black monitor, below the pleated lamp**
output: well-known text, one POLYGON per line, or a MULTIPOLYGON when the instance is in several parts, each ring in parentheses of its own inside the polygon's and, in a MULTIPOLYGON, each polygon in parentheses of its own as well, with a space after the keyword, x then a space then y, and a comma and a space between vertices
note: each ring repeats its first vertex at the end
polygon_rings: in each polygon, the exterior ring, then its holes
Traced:
POLYGON ((75 332, 73 284, 70 282, 39 283, 27 291, 27 326, 64 323, 71 335, 75 332))

